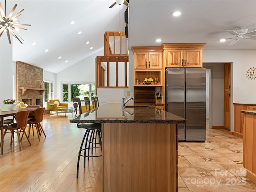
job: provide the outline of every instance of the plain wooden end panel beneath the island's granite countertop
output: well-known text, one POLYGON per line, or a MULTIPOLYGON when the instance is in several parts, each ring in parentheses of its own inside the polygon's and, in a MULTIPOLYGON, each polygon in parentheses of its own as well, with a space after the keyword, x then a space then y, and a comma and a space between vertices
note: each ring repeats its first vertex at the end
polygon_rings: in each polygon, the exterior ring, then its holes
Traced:
POLYGON ((177 124, 104 124, 104 192, 177 191, 177 124))

